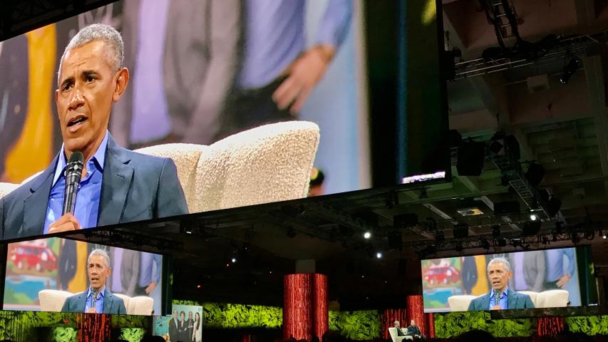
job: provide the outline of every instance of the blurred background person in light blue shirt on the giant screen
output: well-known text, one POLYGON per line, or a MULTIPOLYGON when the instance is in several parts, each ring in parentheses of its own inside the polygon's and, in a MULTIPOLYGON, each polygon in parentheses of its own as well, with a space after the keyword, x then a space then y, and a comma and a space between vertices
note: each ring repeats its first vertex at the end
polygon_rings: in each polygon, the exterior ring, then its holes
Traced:
POLYGON ((218 138, 293 120, 349 32, 352 1, 329 0, 306 47, 305 0, 244 1, 242 61, 218 138))

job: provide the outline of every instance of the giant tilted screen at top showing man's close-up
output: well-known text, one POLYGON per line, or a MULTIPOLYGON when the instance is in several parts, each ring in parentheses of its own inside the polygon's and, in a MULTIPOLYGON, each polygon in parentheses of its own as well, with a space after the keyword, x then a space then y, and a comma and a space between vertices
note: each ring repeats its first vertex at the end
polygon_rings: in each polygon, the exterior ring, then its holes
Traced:
POLYGON ((123 0, 2 41, 2 237, 444 177, 439 6, 123 0))

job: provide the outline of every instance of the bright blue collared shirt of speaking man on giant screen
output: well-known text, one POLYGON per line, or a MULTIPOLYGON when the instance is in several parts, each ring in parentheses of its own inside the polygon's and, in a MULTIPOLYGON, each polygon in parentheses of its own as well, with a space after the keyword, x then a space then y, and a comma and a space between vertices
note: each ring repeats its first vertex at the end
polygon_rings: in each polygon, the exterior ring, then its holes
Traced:
MULTIPOLYGON (((81 179, 76 197, 74 216, 80 222, 82 228, 93 228, 97 226, 99 214, 99 200, 101 199, 101 182, 103 180, 103 163, 105 162, 105 150, 108 147, 108 132, 99 145, 97 151, 86 162, 86 175, 81 179)), ((44 221, 44 234, 48 234, 48 226, 61 217, 63 209, 63 196, 66 191, 66 176, 63 175, 67 165, 66 153, 61 145, 61 155, 58 157, 53 177, 51 195, 48 197, 46 207, 46 219, 44 221)))

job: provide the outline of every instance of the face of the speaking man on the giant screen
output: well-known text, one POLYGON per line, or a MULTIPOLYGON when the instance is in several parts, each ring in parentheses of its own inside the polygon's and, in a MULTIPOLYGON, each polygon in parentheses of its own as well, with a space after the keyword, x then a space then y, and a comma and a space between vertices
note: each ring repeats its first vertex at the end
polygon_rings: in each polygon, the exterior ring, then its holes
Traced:
POLYGON ((56 105, 63 143, 68 152, 92 149, 108 128, 118 73, 107 61, 103 41, 68 51, 59 74, 56 105))

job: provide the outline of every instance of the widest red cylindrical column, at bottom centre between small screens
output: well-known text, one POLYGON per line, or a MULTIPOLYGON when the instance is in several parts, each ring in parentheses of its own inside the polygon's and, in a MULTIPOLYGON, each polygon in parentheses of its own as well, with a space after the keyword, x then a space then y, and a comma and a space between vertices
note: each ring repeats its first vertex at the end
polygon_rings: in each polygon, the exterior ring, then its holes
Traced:
POLYGON ((329 329, 327 276, 288 274, 283 289, 283 337, 321 338, 329 329))

